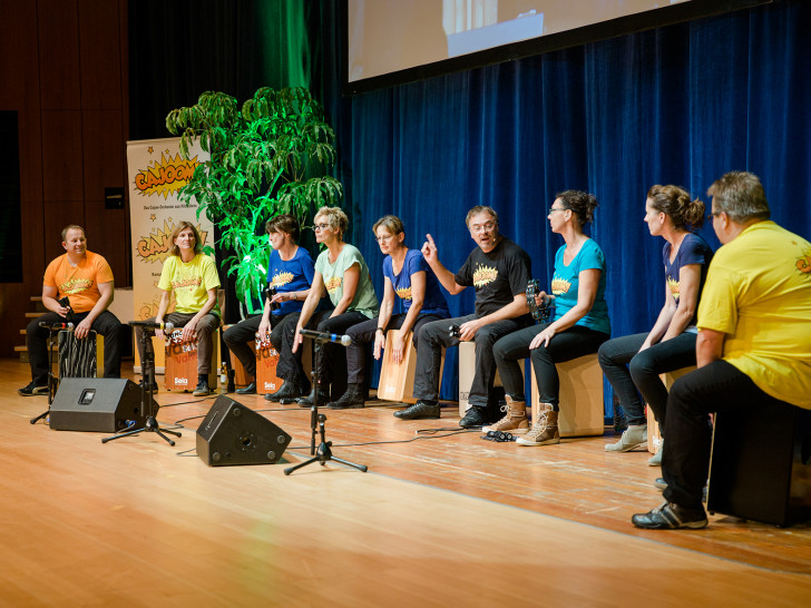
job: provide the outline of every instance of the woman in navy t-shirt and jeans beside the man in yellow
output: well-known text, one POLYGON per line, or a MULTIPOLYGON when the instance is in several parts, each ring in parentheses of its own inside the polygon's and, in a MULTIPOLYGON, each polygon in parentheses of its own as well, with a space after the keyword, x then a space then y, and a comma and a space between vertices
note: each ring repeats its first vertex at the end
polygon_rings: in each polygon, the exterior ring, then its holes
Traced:
MULTIPOLYGON (((665 239, 665 305, 649 332, 615 337, 599 349, 603 373, 628 416, 628 429, 618 442, 605 447, 607 452, 647 444, 645 402, 664 438, 667 389, 659 374, 695 365, 695 313, 713 255, 710 245, 692 232, 704 223, 704 203, 691 200, 678 186, 653 186, 647 193, 647 228, 665 239)), ((662 448, 648 463, 661 465, 662 448)))

